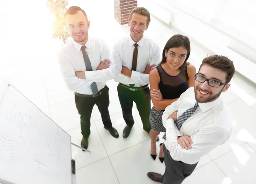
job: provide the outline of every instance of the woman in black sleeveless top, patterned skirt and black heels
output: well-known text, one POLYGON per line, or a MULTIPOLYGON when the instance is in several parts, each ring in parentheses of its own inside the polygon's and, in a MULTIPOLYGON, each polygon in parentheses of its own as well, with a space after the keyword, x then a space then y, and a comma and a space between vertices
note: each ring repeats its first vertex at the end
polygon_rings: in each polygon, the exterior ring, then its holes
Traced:
MULTIPOLYGON (((196 69, 187 60, 190 55, 189 38, 174 35, 163 49, 159 66, 149 73, 149 83, 153 108, 149 116, 151 125, 151 157, 157 157, 156 141, 160 132, 166 132, 162 122, 163 111, 189 87, 194 86, 196 69)), ((160 144, 159 159, 163 162, 163 144, 160 144)))

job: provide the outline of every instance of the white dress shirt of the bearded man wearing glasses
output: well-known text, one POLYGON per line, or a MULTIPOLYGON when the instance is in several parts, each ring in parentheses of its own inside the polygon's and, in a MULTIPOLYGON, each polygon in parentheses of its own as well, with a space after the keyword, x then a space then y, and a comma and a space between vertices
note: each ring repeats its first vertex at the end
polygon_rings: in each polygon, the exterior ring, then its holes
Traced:
POLYGON ((167 139, 164 144, 174 160, 187 164, 197 163, 202 156, 224 144, 232 131, 232 118, 221 96, 212 102, 198 103, 199 107, 182 124, 180 131, 173 119, 167 120, 175 111, 178 118, 194 106, 195 101, 194 87, 191 87, 163 112, 163 126, 166 128, 167 139), (183 149, 177 142, 178 136, 185 135, 192 138, 193 144, 189 150, 183 149))

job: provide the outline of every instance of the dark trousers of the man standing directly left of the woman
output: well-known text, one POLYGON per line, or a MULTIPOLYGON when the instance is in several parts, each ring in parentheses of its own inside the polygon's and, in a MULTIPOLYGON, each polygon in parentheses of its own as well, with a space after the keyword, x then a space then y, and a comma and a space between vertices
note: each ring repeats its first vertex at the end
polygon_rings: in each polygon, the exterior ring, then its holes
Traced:
POLYGON ((125 123, 132 127, 134 119, 132 117, 133 102, 136 103, 137 109, 140 113, 140 118, 143 123, 143 129, 150 131, 149 113, 151 110, 150 91, 149 88, 140 89, 138 91, 131 91, 120 84, 117 86, 119 101, 122 107, 122 115, 125 123))

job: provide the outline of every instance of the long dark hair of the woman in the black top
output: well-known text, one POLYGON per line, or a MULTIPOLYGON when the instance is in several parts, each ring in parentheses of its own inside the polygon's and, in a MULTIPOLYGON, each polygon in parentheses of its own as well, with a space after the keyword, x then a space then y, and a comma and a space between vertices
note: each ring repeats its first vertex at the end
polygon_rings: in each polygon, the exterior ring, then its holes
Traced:
POLYGON ((188 65, 189 63, 187 63, 186 61, 189 59, 189 55, 190 55, 190 41, 189 38, 183 35, 173 35, 166 43, 164 49, 163 49, 163 55, 162 55, 162 60, 161 60, 161 64, 166 63, 166 57, 165 57, 165 51, 168 52, 169 49, 171 48, 175 48, 175 47, 184 47, 187 50, 187 54, 186 54, 186 59, 184 61, 184 63, 180 66, 180 69, 182 69, 184 66, 188 65))

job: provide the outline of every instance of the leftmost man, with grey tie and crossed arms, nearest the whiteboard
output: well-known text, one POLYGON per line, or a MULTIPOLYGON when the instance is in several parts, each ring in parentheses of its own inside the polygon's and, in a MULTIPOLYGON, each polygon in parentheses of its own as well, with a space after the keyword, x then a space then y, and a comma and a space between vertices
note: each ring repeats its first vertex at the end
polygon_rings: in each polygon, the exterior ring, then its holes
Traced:
POLYGON ((109 96, 106 81, 116 76, 115 63, 103 40, 88 37, 90 21, 78 6, 71 6, 65 14, 73 39, 68 40, 59 52, 59 63, 64 81, 75 92, 76 108, 81 118, 81 147, 87 149, 90 135, 90 117, 93 106, 98 106, 104 128, 118 138, 108 112, 109 96))

